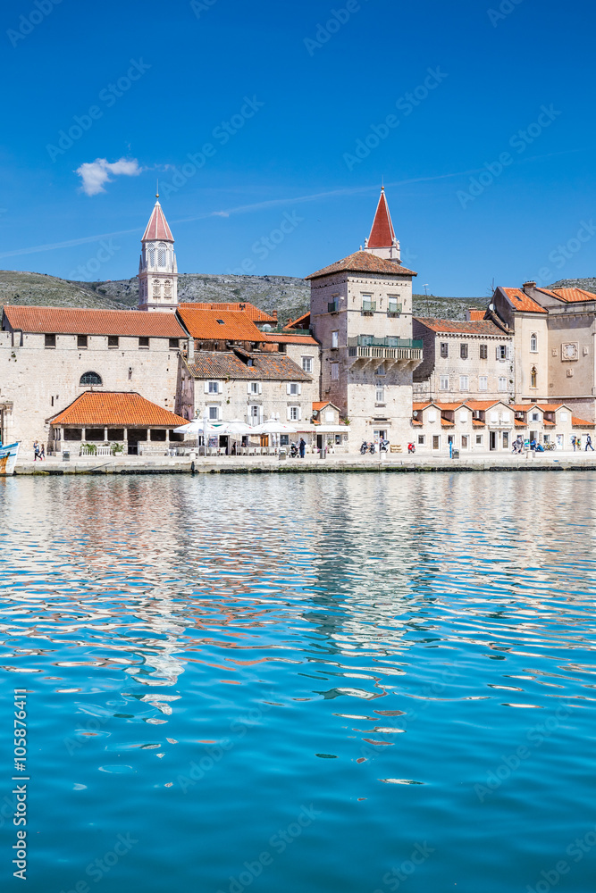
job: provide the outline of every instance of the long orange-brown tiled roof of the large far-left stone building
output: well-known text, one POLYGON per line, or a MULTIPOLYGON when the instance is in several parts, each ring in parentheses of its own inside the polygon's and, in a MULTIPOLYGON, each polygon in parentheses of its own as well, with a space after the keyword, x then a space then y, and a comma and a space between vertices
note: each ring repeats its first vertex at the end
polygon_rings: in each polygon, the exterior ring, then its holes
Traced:
POLYGON ((74 307, 5 306, 12 329, 66 335, 131 335, 186 338, 175 313, 144 310, 80 310, 74 307))

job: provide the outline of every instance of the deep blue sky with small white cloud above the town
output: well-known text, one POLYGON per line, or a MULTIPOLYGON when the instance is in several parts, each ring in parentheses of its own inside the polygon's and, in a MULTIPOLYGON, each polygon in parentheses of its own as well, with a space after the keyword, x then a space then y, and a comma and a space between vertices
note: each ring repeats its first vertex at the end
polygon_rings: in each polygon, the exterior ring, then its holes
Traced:
POLYGON ((129 278, 159 177, 180 271, 304 276, 364 243, 384 178, 416 290, 596 275, 590 0, 1 15, 4 269, 129 278))

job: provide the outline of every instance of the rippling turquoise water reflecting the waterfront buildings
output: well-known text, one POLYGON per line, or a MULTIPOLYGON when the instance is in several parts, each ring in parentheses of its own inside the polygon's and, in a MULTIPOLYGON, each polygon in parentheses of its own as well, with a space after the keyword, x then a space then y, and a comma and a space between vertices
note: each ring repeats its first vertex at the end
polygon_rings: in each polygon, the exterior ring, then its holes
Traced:
POLYGON ((3 889, 593 893, 595 488, 0 479, 3 889))

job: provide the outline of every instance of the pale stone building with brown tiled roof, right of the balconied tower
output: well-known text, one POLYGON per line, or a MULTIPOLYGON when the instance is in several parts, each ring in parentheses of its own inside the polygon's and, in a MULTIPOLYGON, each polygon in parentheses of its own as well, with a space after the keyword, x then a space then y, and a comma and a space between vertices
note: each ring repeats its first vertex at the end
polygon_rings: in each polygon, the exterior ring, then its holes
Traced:
POLYGON ((424 355, 414 371, 416 401, 514 398, 514 338, 502 323, 415 317, 413 332, 424 355))

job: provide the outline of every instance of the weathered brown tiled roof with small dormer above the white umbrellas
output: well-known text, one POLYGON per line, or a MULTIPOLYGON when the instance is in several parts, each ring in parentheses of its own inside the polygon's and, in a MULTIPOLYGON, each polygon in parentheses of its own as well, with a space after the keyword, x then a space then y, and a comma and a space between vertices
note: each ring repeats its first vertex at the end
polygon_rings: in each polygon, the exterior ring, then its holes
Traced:
POLYGON ((247 354, 252 366, 234 351, 199 350, 194 363, 186 363, 196 379, 248 379, 269 381, 312 381, 310 375, 284 354, 247 354))

